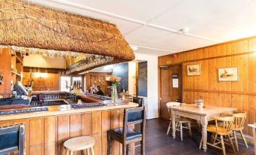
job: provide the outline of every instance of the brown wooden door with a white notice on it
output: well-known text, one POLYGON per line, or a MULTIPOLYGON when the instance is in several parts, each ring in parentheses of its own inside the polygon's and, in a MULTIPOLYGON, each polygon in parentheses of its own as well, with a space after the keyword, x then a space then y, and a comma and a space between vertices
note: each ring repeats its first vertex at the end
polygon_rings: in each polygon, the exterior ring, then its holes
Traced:
POLYGON ((160 117, 169 120, 167 102, 182 102, 182 65, 160 68, 160 117))

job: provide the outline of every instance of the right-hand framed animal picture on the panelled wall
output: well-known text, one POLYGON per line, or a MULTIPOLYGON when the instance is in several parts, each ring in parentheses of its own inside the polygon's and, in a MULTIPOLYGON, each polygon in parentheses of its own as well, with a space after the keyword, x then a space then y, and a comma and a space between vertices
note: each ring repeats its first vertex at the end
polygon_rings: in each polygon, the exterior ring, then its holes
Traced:
POLYGON ((238 81, 238 68, 218 68, 218 81, 238 81))

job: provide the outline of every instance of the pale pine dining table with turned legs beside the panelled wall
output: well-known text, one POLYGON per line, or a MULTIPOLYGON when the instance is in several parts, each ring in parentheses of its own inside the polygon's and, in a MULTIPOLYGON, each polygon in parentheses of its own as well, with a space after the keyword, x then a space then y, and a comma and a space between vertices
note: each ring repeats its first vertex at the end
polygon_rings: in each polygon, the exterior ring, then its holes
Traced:
POLYGON ((202 125, 202 149, 207 150, 207 125, 212 116, 219 116, 221 113, 232 113, 236 108, 216 107, 205 105, 203 108, 197 108, 196 104, 186 104, 170 107, 172 120, 172 136, 176 136, 175 117, 187 117, 197 120, 202 125))

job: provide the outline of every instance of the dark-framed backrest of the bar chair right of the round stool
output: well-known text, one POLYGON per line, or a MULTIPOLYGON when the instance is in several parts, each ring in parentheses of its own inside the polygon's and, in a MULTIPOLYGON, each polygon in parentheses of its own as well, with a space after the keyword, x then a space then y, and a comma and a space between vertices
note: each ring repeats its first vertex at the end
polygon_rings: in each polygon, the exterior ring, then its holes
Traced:
POLYGON ((146 113, 145 107, 139 108, 127 108, 124 113, 124 123, 123 123, 123 136, 126 139, 128 132, 128 126, 140 124, 140 131, 145 136, 145 127, 146 127, 146 113))

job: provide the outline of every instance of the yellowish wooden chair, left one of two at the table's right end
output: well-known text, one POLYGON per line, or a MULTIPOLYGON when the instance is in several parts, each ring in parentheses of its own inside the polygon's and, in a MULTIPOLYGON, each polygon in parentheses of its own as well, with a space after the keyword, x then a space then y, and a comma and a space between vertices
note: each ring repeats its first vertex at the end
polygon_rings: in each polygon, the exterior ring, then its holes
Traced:
MULTIPOLYGON (((235 117, 212 117, 215 120, 215 125, 208 125, 207 126, 207 132, 211 132, 211 142, 207 142, 208 145, 211 145, 212 147, 216 147, 218 149, 221 149, 223 151, 223 154, 226 154, 225 149, 225 143, 224 143, 224 136, 228 137, 228 140, 230 141, 230 145, 236 153, 235 147, 233 145, 233 141, 230 137, 232 134, 232 126, 233 122, 235 120, 235 117), (222 124, 221 126, 219 124, 222 124), (220 136, 220 138, 217 138, 217 136, 220 136), (221 147, 218 147, 217 145, 221 144, 221 147)), ((202 139, 200 142, 200 148, 202 147, 202 139)))

